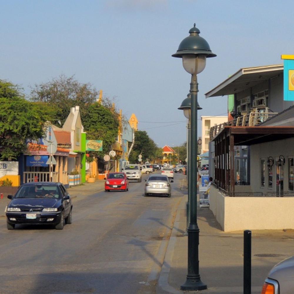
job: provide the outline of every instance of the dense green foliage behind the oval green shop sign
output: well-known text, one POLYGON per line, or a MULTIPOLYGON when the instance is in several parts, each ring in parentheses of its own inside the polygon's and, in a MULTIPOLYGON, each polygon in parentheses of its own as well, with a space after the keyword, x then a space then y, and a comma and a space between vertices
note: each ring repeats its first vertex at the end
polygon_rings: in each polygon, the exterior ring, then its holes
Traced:
POLYGON ((118 115, 113 113, 100 103, 92 103, 88 107, 88 112, 81 116, 84 130, 87 132, 87 140, 102 140, 103 151, 90 151, 90 157, 103 158, 104 154, 111 150, 111 145, 115 142, 118 134, 118 115))

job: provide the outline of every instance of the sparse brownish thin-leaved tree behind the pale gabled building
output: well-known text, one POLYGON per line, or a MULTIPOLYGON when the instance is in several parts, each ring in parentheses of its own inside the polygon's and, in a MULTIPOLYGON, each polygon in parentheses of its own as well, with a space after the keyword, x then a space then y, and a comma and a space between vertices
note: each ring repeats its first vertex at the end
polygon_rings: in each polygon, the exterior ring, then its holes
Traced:
POLYGON ((90 83, 79 83, 74 76, 53 78, 47 83, 35 84, 31 89, 31 101, 42 102, 55 108, 56 119, 63 124, 69 115, 71 107, 80 106, 83 118, 88 107, 96 102, 98 92, 90 83))

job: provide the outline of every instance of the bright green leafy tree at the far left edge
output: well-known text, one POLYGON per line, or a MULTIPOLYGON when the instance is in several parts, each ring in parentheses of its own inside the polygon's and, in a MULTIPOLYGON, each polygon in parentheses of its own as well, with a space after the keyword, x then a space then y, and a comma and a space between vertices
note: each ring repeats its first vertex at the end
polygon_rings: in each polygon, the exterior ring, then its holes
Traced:
POLYGON ((24 98, 19 88, 0 80, 0 160, 16 159, 27 142, 44 136, 52 109, 24 98))

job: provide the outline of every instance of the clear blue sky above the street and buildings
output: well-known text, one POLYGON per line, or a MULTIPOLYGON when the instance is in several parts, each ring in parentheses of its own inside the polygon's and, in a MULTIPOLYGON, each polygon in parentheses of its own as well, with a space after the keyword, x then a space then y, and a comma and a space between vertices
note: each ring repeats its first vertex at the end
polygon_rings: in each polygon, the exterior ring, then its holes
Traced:
POLYGON ((200 116, 227 115, 227 97, 204 94, 240 68, 294 54, 293 1, 0 0, 0 79, 30 86, 61 74, 91 83, 159 147, 186 141, 177 108, 191 76, 171 57, 196 23, 215 58, 198 75, 200 116))

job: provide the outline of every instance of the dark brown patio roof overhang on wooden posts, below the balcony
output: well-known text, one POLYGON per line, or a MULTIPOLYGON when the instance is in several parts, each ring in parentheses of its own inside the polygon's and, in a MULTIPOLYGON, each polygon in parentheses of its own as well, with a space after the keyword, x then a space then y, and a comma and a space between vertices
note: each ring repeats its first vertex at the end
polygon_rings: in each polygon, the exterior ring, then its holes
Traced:
POLYGON ((294 127, 224 127, 212 141, 223 136, 233 136, 234 145, 250 146, 260 143, 294 138, 294 127))

